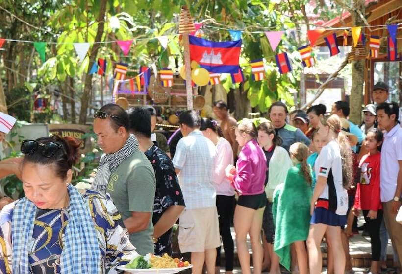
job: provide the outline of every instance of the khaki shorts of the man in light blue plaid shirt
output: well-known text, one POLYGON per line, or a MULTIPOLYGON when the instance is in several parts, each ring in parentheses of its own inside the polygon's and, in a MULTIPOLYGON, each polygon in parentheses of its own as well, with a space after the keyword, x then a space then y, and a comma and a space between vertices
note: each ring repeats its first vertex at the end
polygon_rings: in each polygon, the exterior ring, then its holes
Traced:
POLYGON ((178 244, 181 253, 219 247, 221 238, 216 207, 184 210, 179 219, 178 244))

